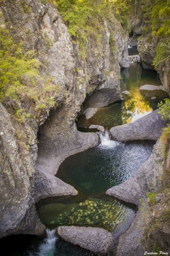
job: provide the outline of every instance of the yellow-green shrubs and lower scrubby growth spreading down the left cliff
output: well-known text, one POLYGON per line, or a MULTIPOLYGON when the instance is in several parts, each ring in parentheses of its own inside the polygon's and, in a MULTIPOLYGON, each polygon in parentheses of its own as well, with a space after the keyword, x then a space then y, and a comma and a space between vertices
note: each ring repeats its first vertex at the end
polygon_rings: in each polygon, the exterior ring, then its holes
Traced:
MULTIPOLYGON (((0 24, 1 25, 1 24, 0 24)), ((25 102, 31 103, 32 116, 55 105, 53 93, 60 88, 52 77, 41 76, 36 51, 24 51, 23 44, 15 44, 10 32, 0 27, 0 101, 12 111, 18 122, 31 118, 25 102), (22 103, 23 102, 23 103, 22 103)))

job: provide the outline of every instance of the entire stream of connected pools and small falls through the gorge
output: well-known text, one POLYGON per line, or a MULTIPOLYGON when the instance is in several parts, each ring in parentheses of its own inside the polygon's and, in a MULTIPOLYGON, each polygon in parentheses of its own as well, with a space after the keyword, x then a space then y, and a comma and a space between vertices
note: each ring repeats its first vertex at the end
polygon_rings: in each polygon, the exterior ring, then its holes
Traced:
MULTIPOLYGON (((160 85, 156 72, 143 70, 140 64, 132 64, 130 68, 122 70, 121 76, 122 91, 128 90, 131 93, 129 98, 93 109, 93 115, 89 115, 89 110, 85 109, 77 121, 79 131, 92 131, 88 129, 91 124, 110 129, 115 125, 134 122, 157 109, 158 102, 145 100, 138 90, 143 84, 160 85)), ((60 225, 102 227, 117 238, 129 228, 137 209, 134 205, 125 204, 104 193, 108 188, 134 176, 139 166, 152 153, 154 144, 155 141, 119 143, 111 141, 108 132, 101 134, 101 144, 98 147, 68 157, 60 164, 57 172, 56 177, 74 186, 78 190, 78 196, 41 200, 36 205, 39 219, 50 230, 60 225)), ((28 235, 1 239, 1 251, 4 249, 6 256, 94 255, 55 237, 50 230, 47 230, 46 239, 28 235)))

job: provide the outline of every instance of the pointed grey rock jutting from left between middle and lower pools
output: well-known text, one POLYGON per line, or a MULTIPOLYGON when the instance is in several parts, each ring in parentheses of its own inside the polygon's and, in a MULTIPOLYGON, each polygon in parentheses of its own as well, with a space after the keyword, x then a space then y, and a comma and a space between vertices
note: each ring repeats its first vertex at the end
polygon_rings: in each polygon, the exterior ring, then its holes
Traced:
POLYGON ((48 196, 67 196, 77 195, 78 191, 73 186, 65 183, 59 178, 36 171, 35 173, 35 201, 38 202, 42 198, 48 196))

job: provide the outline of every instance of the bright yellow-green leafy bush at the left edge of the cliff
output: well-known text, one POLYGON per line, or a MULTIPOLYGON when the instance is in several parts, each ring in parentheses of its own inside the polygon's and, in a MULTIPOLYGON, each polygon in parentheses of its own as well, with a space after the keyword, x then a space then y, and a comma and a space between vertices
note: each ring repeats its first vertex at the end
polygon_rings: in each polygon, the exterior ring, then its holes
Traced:
POLYGON ((0 99, 17 101, 25 81, 32 86, 39 79, 39 61, 33 51, 23 52, 22 44, 14 44, 7 29, 0 28, 0 99))

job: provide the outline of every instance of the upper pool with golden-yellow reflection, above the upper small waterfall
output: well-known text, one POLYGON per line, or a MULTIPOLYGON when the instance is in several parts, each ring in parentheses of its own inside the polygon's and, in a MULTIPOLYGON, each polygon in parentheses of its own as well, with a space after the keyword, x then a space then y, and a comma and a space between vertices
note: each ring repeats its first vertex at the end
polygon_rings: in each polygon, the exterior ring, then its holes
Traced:
POLYGON ((79 131, 89 131, 87 127, 92 124, 103 125, 110 129, 116 125, 131 123, 148 115, 157 109, 157 101, 145 100, 139 92, 139 87, 144 84, 160 85, 160 79, 154 70, 143 70, 141 64, 131 64, 130 68, 125 68, 121 72, 121 91, 129 91, 129 97, 120 102, 115 102, 104 108, 93 109, 96 113, 87 118, 86 112, 78 118, 76 122, 79 131))

